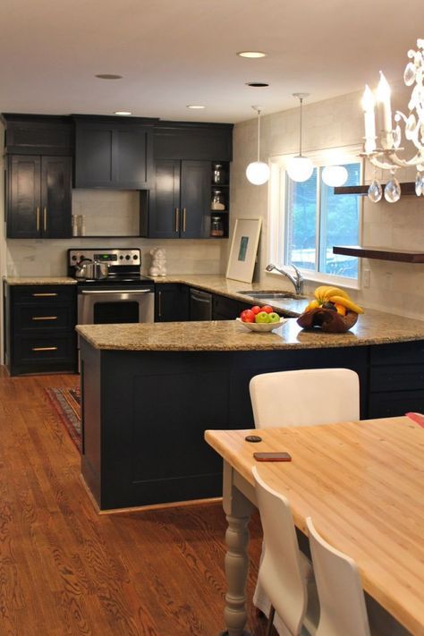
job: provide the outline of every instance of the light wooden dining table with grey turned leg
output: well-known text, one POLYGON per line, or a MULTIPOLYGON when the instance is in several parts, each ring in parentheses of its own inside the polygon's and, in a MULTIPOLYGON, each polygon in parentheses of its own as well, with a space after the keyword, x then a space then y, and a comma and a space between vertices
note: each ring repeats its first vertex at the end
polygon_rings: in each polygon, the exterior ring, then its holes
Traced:
POLYGON ((205 439, 224 460, 225 633, 248 633, 248 523, 257 505, 251 474, 257 465, 288 498, 304 535, 310 516, 328 543, 356 561, 369 606, 377 608, 369 612, 373 633, 424 635, 424 428, 396 417, 207 430, 205 439), (249 435, 262 441, 246 441, 249 435), (286 451, 292 461, 256 462, 255 451, 286 451))

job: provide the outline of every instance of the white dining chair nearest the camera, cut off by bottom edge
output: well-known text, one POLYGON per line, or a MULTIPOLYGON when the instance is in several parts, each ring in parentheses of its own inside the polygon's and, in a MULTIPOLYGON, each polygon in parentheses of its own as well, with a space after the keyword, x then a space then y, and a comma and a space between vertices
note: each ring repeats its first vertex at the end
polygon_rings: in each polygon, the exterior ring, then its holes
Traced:
POLYGON ((353 559, 330 546, 306 520, 319 598, 316 636, 370 636, 360 574, 353 559))

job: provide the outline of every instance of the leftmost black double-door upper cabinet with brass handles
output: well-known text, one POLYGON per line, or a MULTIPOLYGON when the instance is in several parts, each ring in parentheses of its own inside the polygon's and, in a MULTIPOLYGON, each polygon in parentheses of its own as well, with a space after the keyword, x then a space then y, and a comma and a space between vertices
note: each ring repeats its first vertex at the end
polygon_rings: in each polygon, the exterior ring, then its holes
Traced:
POLYGON ((72 157, 7 157, 7 237, 71 236, 72 157))

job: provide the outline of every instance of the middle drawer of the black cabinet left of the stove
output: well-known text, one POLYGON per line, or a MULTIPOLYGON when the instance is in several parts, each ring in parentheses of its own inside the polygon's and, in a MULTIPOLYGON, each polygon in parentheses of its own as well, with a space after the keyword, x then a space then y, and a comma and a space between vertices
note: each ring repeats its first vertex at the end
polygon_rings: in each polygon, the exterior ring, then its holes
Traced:
POLYGON ((69 305, 15 305, 13 309, 13 328, 15 333, 28 331, 71 331, 73 329, 74 310, 69 305))

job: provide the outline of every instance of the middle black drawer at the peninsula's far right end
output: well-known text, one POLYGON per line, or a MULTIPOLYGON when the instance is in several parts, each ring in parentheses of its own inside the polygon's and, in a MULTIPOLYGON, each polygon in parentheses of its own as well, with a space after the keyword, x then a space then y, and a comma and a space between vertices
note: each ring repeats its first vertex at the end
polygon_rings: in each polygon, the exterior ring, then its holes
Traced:
POLYGON ((371 367, 369 390, 413 391, 424 390, 424 364, 389 365, 371 367))

